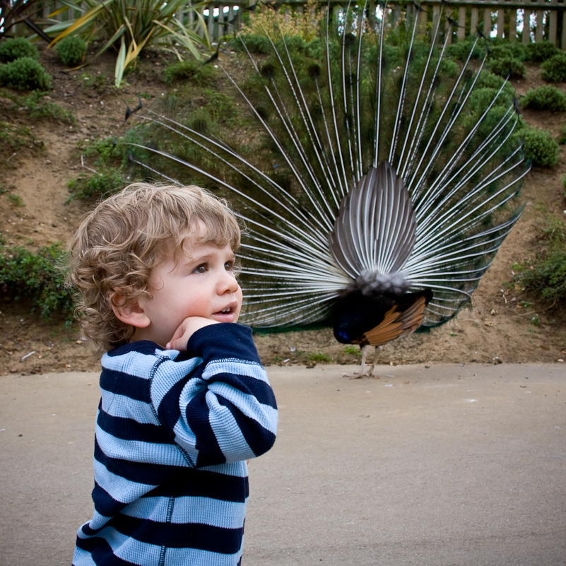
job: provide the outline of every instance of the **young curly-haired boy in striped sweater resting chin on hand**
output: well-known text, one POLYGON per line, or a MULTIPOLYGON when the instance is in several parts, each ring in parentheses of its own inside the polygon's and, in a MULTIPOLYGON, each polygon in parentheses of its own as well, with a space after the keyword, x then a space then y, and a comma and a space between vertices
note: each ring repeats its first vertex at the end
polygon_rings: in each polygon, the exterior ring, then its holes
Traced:
POLYGON ((277 408, 237 322, 240 228, 199 187, 134 184, 71 244, 83 331, 102 356, 93 519, 73 566, 239 565, 247 459, 277 408))

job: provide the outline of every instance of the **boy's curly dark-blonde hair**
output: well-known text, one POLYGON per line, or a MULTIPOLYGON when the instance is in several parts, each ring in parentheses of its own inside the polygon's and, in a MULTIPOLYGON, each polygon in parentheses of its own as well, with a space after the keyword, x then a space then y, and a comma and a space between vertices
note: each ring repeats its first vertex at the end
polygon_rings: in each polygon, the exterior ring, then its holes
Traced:
POLYGON ((151 270, 172 242, 179 257, 187 238, 237 251, 240 226, 225 201, 194 185, 134 183, 98 204, 71 241, 69 283, 84 335, 104 350, 128 342, 134 327, 114 315, 116 295, 121 305, 151 298, 151 270))

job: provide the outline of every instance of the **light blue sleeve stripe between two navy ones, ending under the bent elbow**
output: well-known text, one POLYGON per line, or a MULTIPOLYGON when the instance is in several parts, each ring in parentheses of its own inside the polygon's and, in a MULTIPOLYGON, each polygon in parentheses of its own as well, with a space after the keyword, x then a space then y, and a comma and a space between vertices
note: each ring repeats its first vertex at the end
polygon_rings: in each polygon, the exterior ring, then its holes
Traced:
POLYGON ((208 422, 216 436, 216 441, 226 461, 234 462, 254 458, 255 454, 249 447, 242 430, 232 415, 232 411, 226 406, 220 405, 216 395, 211 391, 206 393, 208 404, 208 422))

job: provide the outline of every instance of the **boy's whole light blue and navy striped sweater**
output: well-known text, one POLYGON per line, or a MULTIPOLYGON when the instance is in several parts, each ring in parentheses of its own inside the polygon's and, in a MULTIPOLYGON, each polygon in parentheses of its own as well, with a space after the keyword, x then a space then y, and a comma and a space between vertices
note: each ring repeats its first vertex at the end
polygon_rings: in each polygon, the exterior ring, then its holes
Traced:
POLYGON ((232 566, 242 557, 246 460, 277 408, 250 329, 213 324, 187 352, 153 342, 102 357, 94 517, 73 566, 232 566))

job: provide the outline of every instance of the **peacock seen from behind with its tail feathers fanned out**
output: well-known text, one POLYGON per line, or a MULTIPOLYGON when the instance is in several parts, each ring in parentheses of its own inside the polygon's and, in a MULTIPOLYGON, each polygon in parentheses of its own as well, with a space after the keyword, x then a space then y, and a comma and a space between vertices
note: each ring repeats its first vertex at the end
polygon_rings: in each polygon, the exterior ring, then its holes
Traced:
POLYGON ((514 91, 486 71, 482 35, 454 57, 448 6, 426 37, 418 10, 352 4, 326 10, 306 47, 281 31, 285 16, 264 27, 264 53, 236 35, 247 64, 223 50, 215 62, 245 129, 136 113, 153 137, 131 158, 202 179, 244 221, 240 320, 330 322, 362 347, 360 375, 367 346, 459 312, 521 213, 514 91))

